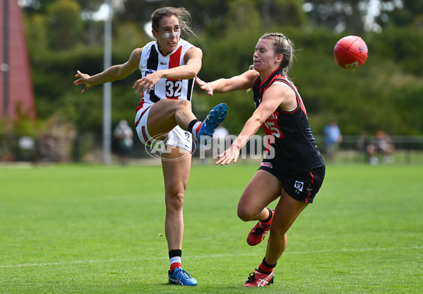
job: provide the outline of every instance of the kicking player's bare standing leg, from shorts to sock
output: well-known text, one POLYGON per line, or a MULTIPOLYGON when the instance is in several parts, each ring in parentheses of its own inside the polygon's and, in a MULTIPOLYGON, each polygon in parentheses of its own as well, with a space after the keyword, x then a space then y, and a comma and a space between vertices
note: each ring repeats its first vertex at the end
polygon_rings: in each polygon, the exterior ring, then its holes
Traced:
POLYGON ((162 170, 165 177, 165 233, 169 250, 182 249, 184 237, 182 206, 191 169, 191 156, 181 160, 169 160, 181 158, 181 155, 188 153, 184 149, 172 147, 169 153, 162 153, 162 170))

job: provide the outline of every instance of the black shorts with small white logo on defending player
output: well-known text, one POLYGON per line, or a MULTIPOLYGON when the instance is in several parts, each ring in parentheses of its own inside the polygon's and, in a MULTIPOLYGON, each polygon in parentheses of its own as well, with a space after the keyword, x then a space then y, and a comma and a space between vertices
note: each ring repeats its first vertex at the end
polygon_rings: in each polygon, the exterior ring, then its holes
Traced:
POLYGON ((282 182, 282 188, 292 198, 313 203, 314 197, 323 184, 326 167, 316 167, 313 170, 299 172, 298 174, 286 175, 278 171, 278 166, 274 163, 263 161, 258 170, 266 170, 277 177, 282 182))

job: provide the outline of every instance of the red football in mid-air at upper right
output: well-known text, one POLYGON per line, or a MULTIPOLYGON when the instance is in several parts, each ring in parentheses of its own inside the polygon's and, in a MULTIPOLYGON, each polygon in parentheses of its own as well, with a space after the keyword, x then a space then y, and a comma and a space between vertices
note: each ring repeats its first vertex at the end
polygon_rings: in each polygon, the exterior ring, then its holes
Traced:
POLYGON ((361 37, 347 36, 333 49, 335 61, 342 69, 358 69, 367 60, 367 45, 361 37))

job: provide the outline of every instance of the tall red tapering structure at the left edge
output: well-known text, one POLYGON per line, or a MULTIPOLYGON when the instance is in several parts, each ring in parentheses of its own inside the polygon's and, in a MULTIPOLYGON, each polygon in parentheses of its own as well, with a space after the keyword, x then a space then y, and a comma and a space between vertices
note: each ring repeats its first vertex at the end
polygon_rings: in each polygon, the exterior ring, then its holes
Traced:
POLYGON ((0 0, 0 120, 36 118, 23 12, 18 0, 0 0))

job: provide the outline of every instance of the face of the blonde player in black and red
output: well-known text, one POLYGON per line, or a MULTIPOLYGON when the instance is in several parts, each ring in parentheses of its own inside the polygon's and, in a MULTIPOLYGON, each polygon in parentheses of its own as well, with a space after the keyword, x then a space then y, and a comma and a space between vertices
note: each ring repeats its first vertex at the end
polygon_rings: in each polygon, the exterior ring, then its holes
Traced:
POLYGON ((281 54, 275 54, 273 40, 260 39, 253 55, 254 69, 256 71, 273 70, 279 66, 277 62, 281 54))

